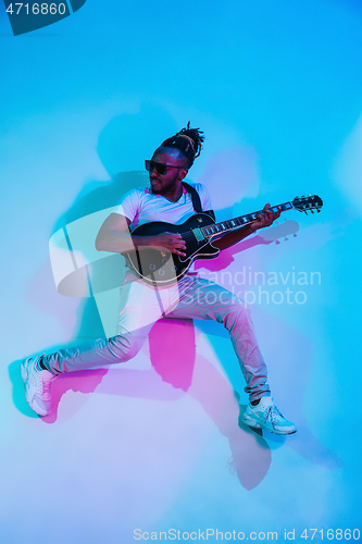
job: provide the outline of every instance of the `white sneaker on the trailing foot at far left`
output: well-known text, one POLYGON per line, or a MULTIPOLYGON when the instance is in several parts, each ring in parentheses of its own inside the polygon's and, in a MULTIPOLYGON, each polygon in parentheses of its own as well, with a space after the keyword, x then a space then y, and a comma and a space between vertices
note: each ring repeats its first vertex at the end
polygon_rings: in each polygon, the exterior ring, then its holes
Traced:
POLYGON ((51 383, 58 376, 38 367, 42 357, 29 357, 21 362, 21 373, 27 404, 39 416, 48 416, 51 412, 51 383))

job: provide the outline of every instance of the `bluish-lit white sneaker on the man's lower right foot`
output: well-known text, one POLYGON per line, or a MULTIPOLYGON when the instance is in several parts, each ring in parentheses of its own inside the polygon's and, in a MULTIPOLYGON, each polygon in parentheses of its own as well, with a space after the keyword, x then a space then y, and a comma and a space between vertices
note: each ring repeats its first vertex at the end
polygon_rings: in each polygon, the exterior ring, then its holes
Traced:
POLYGON ((273 401, 273 397, 262 397, 257 406, 248 405, 242 416, 246 425, 265 429, 274 434, 292 434, 297 428, 283 417, 273 401))

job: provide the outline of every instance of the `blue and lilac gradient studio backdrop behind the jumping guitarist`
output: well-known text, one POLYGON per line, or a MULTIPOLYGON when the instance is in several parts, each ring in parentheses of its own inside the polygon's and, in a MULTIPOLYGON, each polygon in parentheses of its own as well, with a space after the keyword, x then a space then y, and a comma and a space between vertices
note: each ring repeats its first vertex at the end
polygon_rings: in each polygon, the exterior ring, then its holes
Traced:
POLYGON ((135 529, 172 528, 278 540, 295 529, 305 542, 309 528, 361 529, 361 30, 357 0, 88 0, 14 37, 0 5, 4 542, 130 543, 135 529), (230 272, 237 290, 244 265, 321 274, 288 280, 305 304, 264 296, 251 308, 298 433, 237 424, 244 383, 213 323, 167 324, 168 358, 179 337, 196 342, 188 385, 165 379, 146 345, 123 368, 60 378, 54 413, 34 417, 18 360, 108 333, 115 300, 58 293, 49 239, 72 222, 90 239, 96 212, 147 183, 143 159, 189 120, 207 137, 189 178, 208 185, 220 220, 301 194, 324 200, 321 214, 288 212, 271 239, 201 269, 230 272))

